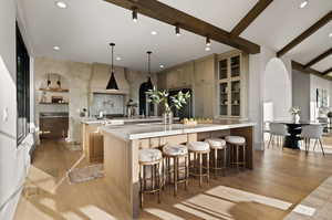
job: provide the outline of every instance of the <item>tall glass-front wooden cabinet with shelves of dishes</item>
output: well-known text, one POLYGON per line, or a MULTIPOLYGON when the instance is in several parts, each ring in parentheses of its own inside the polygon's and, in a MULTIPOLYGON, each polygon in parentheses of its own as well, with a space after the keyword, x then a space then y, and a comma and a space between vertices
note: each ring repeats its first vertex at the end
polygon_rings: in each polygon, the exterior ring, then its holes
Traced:
POLYGON ((247 117, 248 56, 240 52, 218 56, 219 115, 247 117))

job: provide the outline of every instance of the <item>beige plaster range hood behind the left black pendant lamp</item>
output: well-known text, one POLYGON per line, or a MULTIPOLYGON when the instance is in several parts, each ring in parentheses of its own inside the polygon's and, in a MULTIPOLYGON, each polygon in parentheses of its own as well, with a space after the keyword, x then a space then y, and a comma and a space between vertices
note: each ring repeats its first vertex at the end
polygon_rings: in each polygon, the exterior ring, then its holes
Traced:
POLYGON ((111 77, 111 66, 102 63, 93 63, 89 86, 90 93, 129 94, 129 84, 125 77, 125 69, 114 66, 114 76, 118 90, 106 90, 111 77))

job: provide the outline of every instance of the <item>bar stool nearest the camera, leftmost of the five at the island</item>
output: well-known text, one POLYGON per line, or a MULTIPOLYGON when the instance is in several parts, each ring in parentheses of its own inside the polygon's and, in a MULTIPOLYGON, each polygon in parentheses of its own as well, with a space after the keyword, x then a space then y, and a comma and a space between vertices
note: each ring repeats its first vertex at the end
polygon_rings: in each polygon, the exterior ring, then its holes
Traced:
POLYGON ((139 150, 139 197, 143 208, 144 193, 158 192, 158 202, 160 202, 160 191, 163 180, 160 178, 160 164, 163 161, 162 151, 158 149, 139 150), (151 168, 151 169, 148 169, 151 168))

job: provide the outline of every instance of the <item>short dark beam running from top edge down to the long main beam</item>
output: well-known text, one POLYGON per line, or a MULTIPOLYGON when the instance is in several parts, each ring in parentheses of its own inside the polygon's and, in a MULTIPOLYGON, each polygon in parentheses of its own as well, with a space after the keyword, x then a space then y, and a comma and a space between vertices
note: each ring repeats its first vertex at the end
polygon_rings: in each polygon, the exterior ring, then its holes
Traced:
POLYGON ((232 36, 240 35, 272 1, 273 0, 259 0, 246 17, 231 30, 230 34, 232 36))

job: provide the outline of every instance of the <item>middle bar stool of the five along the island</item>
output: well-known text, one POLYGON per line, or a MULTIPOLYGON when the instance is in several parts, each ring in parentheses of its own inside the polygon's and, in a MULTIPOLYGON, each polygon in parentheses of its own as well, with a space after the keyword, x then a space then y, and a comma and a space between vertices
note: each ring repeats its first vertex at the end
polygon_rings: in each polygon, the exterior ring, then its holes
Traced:
POLYGON ((193 175, 194 177, 199 177, 199 187, 201 187, 203 177, 207 177, 207 182, 209 182, 210 146, 208 143, 205 143, 205 142, 193 142, 193 143, 188 143, 188 149, 189 149, 189 155, 190 155, 190 153, 194 154, 193 167, 190 166, 191 161, 190 161, 190 156, 189 156, 189 167, 193 168, 193 171, 190 172, 190 175, 193 175), (204 155, 206 156, 206 166, 203 166, 204 155), (198 163, 198 166, 197 166, 197 163, 198 163), (206 171, 203 172, 203 169, 205 169, 206 171))

